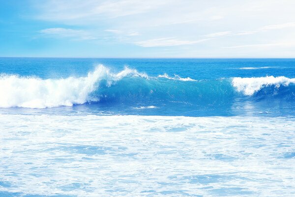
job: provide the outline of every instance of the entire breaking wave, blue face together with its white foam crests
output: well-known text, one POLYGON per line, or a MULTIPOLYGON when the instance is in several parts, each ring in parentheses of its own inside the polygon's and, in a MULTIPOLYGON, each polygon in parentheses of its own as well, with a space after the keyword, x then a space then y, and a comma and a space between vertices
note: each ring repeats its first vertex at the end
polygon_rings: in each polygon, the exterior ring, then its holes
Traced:
POLYGON ((249 100, 294 101, 295 79, 267 76, 197 80, 166 73, 154 77, 127 67, 114 73, 99 65, 86 77, 40 79, 1 74, 0 95, 2 108, 46 108, 87 102, 139 109, 162 105, 227 107, 249 100))

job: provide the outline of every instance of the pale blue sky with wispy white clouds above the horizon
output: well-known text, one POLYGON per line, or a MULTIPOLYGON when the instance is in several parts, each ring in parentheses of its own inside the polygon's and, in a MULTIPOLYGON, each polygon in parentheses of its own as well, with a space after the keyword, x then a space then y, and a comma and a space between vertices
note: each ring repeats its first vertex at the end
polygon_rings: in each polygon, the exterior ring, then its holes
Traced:
POLYGON ((295 58, 295 0, 0 0, 1 57, 295 58))

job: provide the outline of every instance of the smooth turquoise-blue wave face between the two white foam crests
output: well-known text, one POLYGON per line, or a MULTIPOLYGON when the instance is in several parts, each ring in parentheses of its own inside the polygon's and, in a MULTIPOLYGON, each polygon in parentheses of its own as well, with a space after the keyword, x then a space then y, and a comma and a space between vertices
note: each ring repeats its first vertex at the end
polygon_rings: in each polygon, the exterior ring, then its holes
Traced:
POLYGON ((188 106, 223 105, 233 102, 236 91, 230 79, 179 81, 166 78, 123 78, 111 86, 106 81, 90 94, 98 103, 188 106))

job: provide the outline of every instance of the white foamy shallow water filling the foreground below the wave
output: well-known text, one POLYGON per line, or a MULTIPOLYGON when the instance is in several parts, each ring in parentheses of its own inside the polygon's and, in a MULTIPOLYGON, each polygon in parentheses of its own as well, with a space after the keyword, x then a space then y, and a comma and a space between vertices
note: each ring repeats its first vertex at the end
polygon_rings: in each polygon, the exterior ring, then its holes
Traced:
POLYGON ((0 196, 293 196, 295 121, 0 115, 0 196))

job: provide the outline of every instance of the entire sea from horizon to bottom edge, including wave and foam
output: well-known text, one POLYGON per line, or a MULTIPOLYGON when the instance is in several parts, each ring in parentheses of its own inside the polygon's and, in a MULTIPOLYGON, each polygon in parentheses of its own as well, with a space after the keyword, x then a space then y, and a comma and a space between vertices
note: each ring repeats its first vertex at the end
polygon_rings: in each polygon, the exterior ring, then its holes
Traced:
POLYGON ((295 196, 295 59, 0 58, 0 197, 123 196, 295 196))

